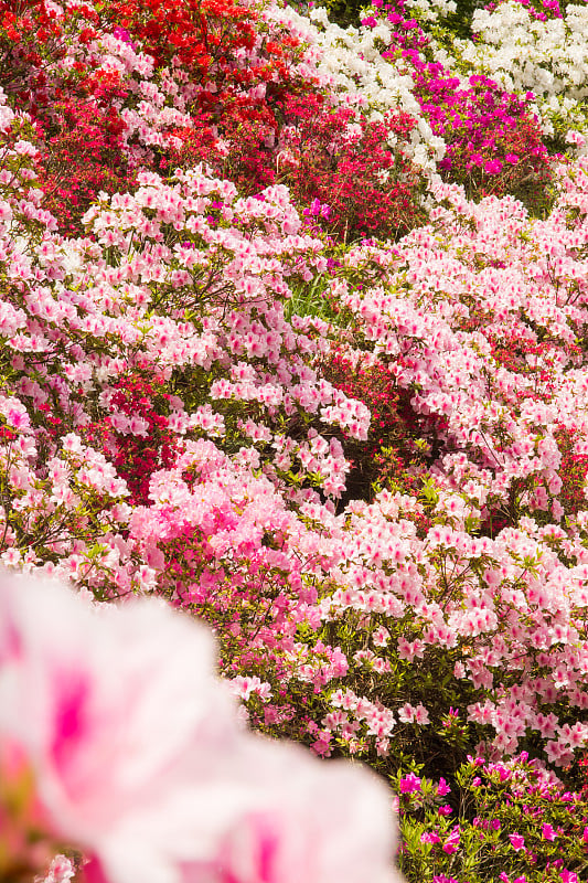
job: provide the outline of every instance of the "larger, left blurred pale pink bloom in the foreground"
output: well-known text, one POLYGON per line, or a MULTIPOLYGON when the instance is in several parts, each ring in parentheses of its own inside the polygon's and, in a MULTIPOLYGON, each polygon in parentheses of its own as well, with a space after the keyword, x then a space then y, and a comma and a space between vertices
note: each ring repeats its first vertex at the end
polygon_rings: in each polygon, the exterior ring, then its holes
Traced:
POLYGON ((6 576, 0 624, 0 738, 22 746, 55 833, 113 883, 171 883, 216 849, 248 798, 209 632, 157 602, 92 609, 6 576))

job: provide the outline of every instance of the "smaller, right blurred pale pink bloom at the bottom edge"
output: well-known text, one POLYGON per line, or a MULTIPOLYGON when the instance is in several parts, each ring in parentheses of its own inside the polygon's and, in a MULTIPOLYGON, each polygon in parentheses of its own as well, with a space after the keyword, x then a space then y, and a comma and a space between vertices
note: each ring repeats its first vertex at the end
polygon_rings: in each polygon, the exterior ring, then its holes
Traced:
MULTIPOLYGON (((214 883, 400 883, 392 871, 389 796, 344 762, 309 758, 300 746, 259 740, 250 747, 259 808, 228 833, 214 883), (320 779, 317 774, 320 773, 320 779)), ((202 866, 184 883, 201 883, 202 866)))

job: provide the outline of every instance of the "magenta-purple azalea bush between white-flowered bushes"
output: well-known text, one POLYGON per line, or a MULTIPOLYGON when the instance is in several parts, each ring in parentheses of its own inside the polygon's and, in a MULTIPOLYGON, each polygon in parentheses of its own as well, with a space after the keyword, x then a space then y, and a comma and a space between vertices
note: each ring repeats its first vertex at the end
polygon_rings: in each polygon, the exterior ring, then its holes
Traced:
POLYGON ((425 119, 443 139, 439 171, 463 184, 471 198, 510 193, 539 214, 549 202, 550 170, 539 123, 528 107, 533 96, 518 97, 488 76, 448 70, 431 36, 411 18, 419 10, 404 2, 384 10, 375 4, 362 22, 378 33, 386 13, 392 30, 381 55, 413 78, 425 119))

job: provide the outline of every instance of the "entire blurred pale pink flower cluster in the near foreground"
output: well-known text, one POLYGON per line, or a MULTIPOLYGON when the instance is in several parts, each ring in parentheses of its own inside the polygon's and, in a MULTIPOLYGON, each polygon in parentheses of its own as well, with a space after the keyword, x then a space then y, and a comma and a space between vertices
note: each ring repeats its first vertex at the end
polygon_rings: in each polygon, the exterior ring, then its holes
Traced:
POLYGON ((104 883, 393 883, 366 769, 254 735, 214 642, 157 600, 0 574, 0 876, 84 853, 104 883))

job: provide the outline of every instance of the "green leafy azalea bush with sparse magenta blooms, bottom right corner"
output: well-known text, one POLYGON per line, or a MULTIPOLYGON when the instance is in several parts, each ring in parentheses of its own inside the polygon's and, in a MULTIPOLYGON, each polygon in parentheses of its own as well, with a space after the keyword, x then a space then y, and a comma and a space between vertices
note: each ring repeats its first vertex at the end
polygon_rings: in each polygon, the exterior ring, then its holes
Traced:
POLYGON ((523 753, 507 763, 469 758, 461 802, 445 779, 399 773, 403 871, 426 881, 578 883, 587 868, 588 807, 523 753))

